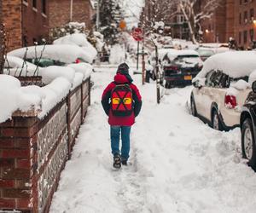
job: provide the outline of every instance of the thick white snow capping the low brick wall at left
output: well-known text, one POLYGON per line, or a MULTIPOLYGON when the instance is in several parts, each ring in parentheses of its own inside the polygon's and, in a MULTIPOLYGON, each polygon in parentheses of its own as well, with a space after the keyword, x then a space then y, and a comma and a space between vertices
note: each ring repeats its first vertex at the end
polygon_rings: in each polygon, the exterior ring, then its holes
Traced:
POLYGON ((0 75, 0 123, 11 118, 16 110, 26 112, 40 110, 38 118, 44 118, 57 103, 63 100, 71 89, 76 88, 90 76, 90 64, 70 66, 49 66, 42 72, 42 81, 47 84, 21 87, 20 81, 9 75, 0 75))

